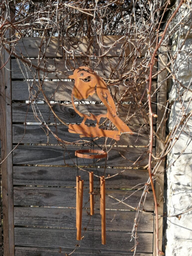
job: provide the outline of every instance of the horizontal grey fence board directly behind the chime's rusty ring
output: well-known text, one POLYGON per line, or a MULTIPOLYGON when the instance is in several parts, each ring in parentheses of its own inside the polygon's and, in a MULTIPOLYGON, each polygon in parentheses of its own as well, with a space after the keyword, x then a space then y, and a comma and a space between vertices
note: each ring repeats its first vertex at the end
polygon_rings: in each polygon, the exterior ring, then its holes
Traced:
MULTIPOLYGON (((68 146, 18 146, 13 152, 14 164, 45 164, 64 166, 76 165, 74 152, 80 147, 68 146)), ((113 147, 108 152, 107 166, 110 167, 141 167, 148 163, 148 148, 113 147), (136 162, 137 161, 137 162, 136 162)), ((78 158, 78 165, 93 164, 90 159, 78 158)), ((100 159, 97 166, 104 166, 105 159, 100 159)))

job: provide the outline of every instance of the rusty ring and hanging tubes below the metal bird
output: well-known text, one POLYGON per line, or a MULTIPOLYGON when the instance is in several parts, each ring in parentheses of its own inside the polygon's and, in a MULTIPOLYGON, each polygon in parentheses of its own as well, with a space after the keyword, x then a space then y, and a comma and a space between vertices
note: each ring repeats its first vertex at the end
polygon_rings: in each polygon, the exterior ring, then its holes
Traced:
MULTIPOLYGON (((103 150, 91 149, 76 150, 75 155, 77 158, 82 159, 107 159, 107 153, 103 150)), ((77 167, 78 168, 78 167, 77 167)), ((90 199, 90 215, 94 215, 94 172, 89 172, 89 199, 90 199)), ((101 214, 101 230, 102 230, 102 244, 106 244, 106 207, 105 207, 105 176, 100 177, 100 214, 101 214)), ((82 205, 84 194, 84 180, 81 180, 81 176, 76 177, 76 228, 77 228, 77 240, 81 240, 82 230, 82 205)))

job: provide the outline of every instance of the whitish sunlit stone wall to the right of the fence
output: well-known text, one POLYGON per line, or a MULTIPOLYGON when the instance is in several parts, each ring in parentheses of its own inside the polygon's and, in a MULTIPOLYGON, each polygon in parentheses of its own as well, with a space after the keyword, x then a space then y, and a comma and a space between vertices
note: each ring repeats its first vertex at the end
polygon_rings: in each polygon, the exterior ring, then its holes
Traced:
MULTIPOLYGON (((190 5, 189 1, 187 4, 190 5)), ((169 93, 169 102, 174 101, 174 103, 168 121, 168 129, 169 132, 172 131, 176 125, 179 125, 180 129, 174 136, 174 140, 177 142, 168 155, 167 161, 169 168, 166 171, 166 211, 168 215, 180 214, 192 208, 192 117, 189 118, 185 127, 180 123, 183 114, 186 114, 184 119, 187 119, 192 111, 192 93, 190 91, 192 89, 192 31, 186 38, 187 32, 191 29, 190 24, 192 24, 191 7, 191 5, 189 7, 185 4, 182 5, 180 13, 172 24, 175 26, 182 19, 189 20, 189 26, 180 27, 172 37, 173 51, 180 49, 183 40, 185 40, 185 44, 182 47, 182 52, 178 52, 177 55, 176 67, 174 67, 176 80, 172 80, 172 88, 169 93), (190 53, 189 57, 187 57, 188 53, 190 53)), ((180 220, 178 217, 168 217, 165 221, 166 256, 191 256, 192 211, 182 214, 180 220)))

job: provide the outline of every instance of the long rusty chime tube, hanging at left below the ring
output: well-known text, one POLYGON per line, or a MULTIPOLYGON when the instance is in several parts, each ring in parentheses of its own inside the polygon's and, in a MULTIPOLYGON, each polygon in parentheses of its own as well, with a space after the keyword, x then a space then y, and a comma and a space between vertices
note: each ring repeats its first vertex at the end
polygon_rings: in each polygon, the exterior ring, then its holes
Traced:
POLYGON ((78 192, 77 240, 81 240, 83 196, 84 196, 84 180, 80 180, 80 188, 78 192))

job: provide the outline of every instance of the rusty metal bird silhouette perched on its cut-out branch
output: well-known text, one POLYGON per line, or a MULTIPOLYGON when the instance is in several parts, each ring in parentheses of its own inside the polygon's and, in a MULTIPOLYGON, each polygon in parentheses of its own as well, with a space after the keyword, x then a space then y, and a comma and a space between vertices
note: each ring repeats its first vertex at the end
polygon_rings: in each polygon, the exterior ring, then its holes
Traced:
POLYGON ((84 118, 80 125, 69 125, 70 133, 80 134, 80 137, 110 137, 119 141, 120 133, 132 134, 131 129, 116 115, 116 108, 110 92, 107 89, 105 81, 99 77, 92 69, 87 67, 80 67, 75 69, 72 76, 69 79, 74 79, 74 87, 72 90, 72 104, 76 113, 84 118), (99 99, 107 108, 107 113, 89 115, 81 113, 77 110, 74 104, 74 97, 78 100, 87 99, 89 96, 93 96, 97 93, 99 99), (99 127, 99 121, 102 117, 108 118, 118 129, 116 130, 104 130, 99 127), (97 124, 95 127, 85 125, 86 119, 95 120, 97 124))

